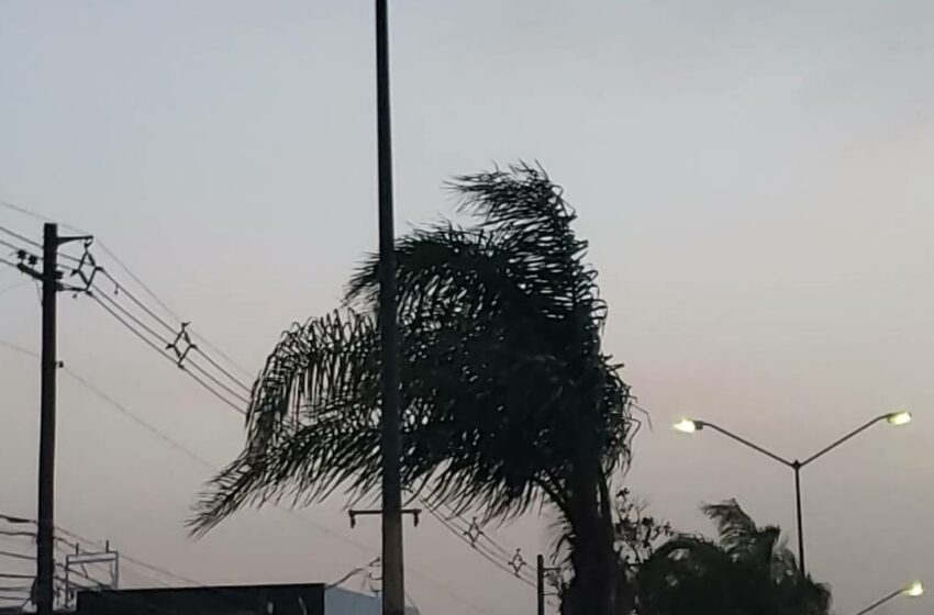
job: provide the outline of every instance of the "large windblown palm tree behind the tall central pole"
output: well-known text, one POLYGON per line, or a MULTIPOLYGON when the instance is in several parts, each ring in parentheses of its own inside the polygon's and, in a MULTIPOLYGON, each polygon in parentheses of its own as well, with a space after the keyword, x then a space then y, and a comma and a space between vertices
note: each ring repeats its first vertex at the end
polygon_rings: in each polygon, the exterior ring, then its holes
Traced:
MULTIPOLYGON (((431 505, 509 519, 548 504, 570 528, 572 615, 618 589, 611 483, 630 390, 601 348, 607 308, 575 212, 540 168, 456 178, 459 213, 397 242, 402 478, 431 505)), ((379 262, 345 305, 293 325, 253 388, 243 452, 209 484, 196 533, 247 506, 378 489, 379 262)))

